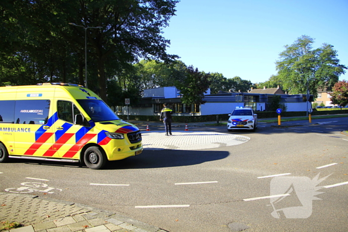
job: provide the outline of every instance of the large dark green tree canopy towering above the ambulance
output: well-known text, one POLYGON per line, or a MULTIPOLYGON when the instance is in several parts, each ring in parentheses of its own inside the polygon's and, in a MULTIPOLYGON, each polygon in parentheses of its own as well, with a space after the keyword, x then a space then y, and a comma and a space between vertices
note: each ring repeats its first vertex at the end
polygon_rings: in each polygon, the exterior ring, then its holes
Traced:
POLYGON ((88 87, 98 90, 106 101, 107 77, 115 77, 139 58, 170 62, 177 57, 166 53, 170 41, 162 36, 176 3, 177 0, 2 0, 0 70, 7 78, 0 81, 33 84, 72 79, 83 83, 87 38, 91 74, 88 87), (102 28, 86 31, 69 23, 102 28))

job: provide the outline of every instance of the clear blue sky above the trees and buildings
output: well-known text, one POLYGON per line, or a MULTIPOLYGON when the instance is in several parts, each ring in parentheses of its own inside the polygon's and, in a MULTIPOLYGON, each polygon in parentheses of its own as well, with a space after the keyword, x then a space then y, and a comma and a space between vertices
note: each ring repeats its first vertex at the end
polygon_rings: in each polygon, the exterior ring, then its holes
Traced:
POLYGON ((348 67, 347 15, 348 0, 181 0, 163 36, 187 66, 256 83, 276 74, 279 53, 302 35, 314 49, 333 45, 348 67))

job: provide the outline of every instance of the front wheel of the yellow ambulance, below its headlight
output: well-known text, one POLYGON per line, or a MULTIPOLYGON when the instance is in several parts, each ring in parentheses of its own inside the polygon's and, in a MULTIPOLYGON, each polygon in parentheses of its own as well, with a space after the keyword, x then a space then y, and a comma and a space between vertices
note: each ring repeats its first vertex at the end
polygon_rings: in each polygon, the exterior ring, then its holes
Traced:
POLYGON ((91 169, 102 168, 107 161, 106 155, 98 147, 89 147, 85 151, 84 161, 91 169))

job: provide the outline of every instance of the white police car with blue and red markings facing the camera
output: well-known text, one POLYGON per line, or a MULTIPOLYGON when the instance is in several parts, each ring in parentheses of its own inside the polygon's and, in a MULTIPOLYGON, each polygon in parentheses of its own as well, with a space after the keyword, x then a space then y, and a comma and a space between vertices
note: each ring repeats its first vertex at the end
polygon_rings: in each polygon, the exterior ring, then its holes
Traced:
POLYGON ((253 130, 258 127, 258 115, 254 113, 253 108, 236 107, 229 114, 230 118, 227 121, 227 130, 247 129, 253 130))

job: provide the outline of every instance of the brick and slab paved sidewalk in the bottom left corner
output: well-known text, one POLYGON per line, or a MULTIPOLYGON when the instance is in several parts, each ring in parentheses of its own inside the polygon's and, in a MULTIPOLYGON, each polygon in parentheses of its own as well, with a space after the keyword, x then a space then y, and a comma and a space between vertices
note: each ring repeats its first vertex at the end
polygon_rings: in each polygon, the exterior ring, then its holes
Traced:
POLYGON ((23 225, 10 232, 166 232, 112 212, 16 193, 0 193, 5 221, 23 225))

